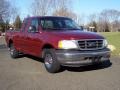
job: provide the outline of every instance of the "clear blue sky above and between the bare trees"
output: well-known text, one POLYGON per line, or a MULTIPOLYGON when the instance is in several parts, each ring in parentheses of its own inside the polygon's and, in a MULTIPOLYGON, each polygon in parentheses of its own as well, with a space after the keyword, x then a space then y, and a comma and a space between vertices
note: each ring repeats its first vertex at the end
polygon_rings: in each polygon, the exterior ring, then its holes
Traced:
MULTIPOLYGON (((32 0, 10 0, 13 5, 19 8, 21 18, 31 15, 32 0)), ((120 0, 73 0, 72 11, 77 15, 89 16, 93 13, 100 13, 104 9, 116 9, 120 11, 120 0)))

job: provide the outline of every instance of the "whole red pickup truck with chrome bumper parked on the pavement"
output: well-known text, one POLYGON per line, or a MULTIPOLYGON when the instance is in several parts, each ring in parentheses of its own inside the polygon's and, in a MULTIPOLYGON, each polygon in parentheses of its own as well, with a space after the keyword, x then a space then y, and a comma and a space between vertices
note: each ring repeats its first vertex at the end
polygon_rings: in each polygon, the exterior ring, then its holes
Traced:
POLYGON ((61 66, 93 65, 110 58, 103 36, 82 31, 67 17, 26 18, 20 31, 6 32, 6 42, 12 58, 21 52, 43 58, 50 73, 61 66))

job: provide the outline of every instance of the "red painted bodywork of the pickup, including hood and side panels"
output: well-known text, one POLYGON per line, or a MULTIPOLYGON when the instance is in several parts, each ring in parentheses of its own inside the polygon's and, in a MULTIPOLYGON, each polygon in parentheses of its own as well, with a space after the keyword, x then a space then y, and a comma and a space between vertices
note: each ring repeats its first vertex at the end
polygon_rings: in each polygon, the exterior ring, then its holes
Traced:
POLYGON ((44 45, 49 44, 55 49, 58 49, 58 42, 60 40, 81 40, 81 39, 104 39, 102 36, 92 32, 83 32, 75 30, 62 30, 62 31, 44 31, 39 26, 39 32, 27 32, 30 22, 33 18, 30 17, 27 26, 24 28, 24 23, 19 32, 8 31, 6 32, 6 42, 9 46, 10 41, 13 42, 15 48, 26 54, 33 56, 41 56, 42 48, 44 45))

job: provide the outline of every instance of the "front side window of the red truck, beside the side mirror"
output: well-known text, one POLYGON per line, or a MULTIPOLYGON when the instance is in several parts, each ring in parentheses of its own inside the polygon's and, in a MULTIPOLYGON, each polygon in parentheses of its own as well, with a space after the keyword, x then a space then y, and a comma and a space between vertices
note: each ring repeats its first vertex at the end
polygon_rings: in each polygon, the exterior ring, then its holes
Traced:
POLYGON ((37 32, 38 31, 38 19, 32 19, 30 26, 28 28, 28 32, 37 32))

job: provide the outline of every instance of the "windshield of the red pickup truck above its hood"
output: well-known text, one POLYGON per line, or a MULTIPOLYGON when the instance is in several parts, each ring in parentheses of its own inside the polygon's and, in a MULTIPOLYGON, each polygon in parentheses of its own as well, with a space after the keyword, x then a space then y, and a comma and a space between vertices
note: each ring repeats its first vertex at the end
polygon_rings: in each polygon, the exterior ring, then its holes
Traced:
POLYGON ((44 30, 79 30, 80 27, 69 18, 43 18, 40 24, 44 30))

